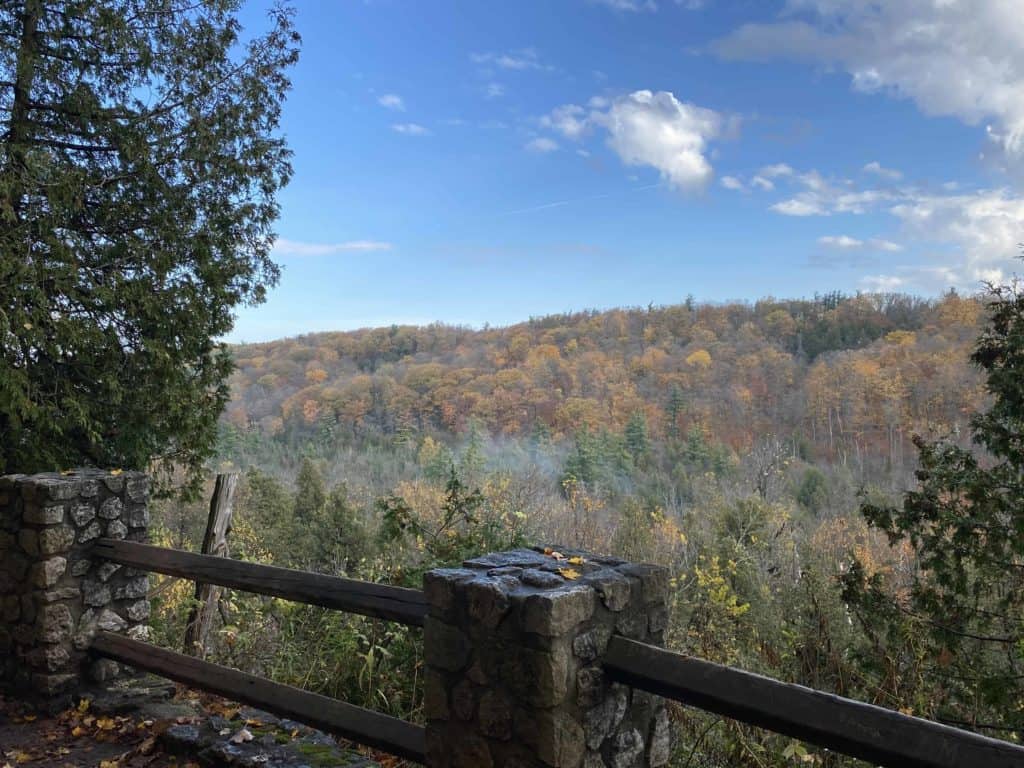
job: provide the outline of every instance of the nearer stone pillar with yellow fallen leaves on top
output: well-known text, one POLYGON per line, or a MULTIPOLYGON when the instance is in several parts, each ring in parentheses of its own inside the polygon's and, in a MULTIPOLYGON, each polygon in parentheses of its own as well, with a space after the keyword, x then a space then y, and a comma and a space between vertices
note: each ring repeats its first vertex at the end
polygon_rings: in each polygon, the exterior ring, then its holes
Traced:
POLYGON ((569 550, 427 573, 427 765, 666 765, 663 699, 607 680, 601 657, 612 635, 664 644, 668 582, 658 566, 569 550))

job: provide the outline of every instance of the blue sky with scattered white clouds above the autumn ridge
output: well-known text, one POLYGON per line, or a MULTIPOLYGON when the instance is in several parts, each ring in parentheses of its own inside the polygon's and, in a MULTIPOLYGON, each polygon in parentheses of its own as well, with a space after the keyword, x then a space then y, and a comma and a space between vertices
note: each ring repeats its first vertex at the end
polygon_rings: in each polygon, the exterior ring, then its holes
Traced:
POLYGON ((283 276, 231 341, 1017 265, 1024 0, 296 4, 283 276))

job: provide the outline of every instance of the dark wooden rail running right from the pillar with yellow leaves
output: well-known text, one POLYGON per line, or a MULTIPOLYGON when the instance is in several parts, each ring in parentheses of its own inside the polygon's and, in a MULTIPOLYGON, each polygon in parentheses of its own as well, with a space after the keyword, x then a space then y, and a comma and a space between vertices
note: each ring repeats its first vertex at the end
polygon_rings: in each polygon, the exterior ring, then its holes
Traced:
POLYGON ((1024 748, 612 637, 613 680, 892 768, 1022 768, 1024 748))

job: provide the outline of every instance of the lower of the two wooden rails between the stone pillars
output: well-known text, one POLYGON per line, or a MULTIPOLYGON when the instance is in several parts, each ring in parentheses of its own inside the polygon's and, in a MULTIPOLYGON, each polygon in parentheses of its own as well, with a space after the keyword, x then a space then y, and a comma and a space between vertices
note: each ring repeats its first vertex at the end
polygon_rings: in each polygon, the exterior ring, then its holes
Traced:
POLYGON ((96 635, 92 651, 391 755, 418 763, 425 761, 426 731, 404 720, 110 632, 96 635))

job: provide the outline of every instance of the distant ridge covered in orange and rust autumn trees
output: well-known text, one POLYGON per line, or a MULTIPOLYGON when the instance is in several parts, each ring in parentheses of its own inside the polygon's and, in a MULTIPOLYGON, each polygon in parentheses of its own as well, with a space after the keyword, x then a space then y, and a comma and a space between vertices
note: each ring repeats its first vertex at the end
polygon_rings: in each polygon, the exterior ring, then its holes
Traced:
POLYGON ((981 404, 968 356, 982 308, 831 294, 310 334, 234 347, 225 421, 290 445, 471 425, 559 440, 632 422, 652 439, 699 430, 746 453, 771 434, 818 461, 899 464, 912 432, 955 431, 981 404))

